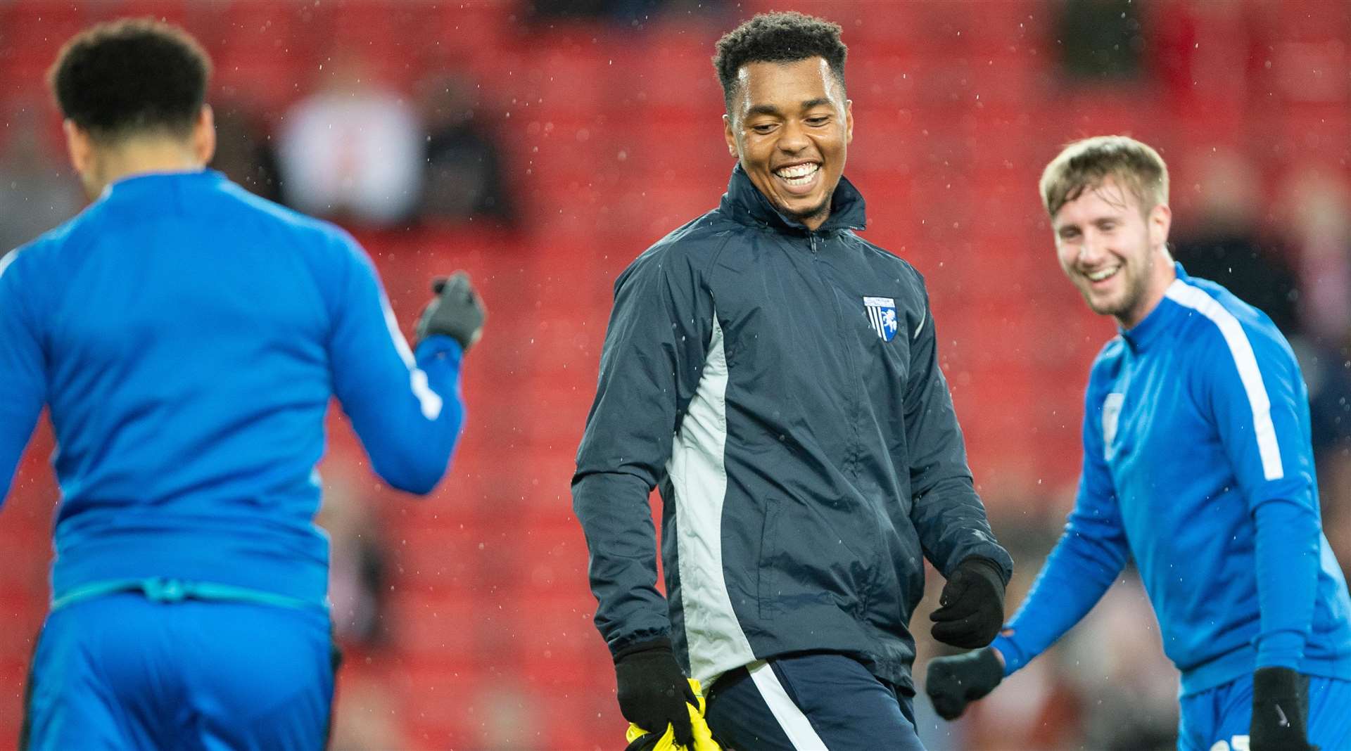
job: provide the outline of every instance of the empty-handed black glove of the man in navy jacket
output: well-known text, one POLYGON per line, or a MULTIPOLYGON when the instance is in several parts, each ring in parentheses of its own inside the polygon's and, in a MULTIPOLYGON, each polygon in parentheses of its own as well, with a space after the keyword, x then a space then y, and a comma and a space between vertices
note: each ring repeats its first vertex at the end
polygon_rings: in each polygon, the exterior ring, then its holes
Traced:
POLYGON ((998 563, 975 555, 962 561, 943 585, 938 604, 939 609, 929 613, 935 639, 963 650, 989 644, 1004 625, 1004 577, 998 563))

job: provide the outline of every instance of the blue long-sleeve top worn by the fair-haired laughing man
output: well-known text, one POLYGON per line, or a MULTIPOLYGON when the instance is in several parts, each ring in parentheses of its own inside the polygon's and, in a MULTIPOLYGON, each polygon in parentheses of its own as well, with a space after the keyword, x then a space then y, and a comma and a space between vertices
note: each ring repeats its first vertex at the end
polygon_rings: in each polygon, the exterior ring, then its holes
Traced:
POLYGON ((994 642, 1005 673, 1078 623, 1129 556, 1183 694, 1267 666, 1351 678, 1300 367, 1260 311, 1177 276, 1093 365, 1074 511, 994 642))

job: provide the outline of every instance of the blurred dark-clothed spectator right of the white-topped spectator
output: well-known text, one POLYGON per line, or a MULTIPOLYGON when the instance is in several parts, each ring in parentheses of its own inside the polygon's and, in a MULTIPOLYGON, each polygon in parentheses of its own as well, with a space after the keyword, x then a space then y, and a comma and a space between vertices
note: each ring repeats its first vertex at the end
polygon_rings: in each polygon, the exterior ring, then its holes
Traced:
POLYGON ((515 222, 501 153, 480 116, 478 88, 462 76, 424 86, 426 174, 419 216, 431 223, 515 222))

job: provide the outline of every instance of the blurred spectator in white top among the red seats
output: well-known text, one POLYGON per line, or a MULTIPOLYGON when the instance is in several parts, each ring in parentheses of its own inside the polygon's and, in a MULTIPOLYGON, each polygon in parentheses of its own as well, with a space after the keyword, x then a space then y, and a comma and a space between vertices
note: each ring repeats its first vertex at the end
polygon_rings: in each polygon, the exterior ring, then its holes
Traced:
POLYGON ((319 90, 286 111, 277 134, 286 201, 366 227, 412 219, 427 140, 417 112, 359 53, 342 49, 328 62, 319 90))

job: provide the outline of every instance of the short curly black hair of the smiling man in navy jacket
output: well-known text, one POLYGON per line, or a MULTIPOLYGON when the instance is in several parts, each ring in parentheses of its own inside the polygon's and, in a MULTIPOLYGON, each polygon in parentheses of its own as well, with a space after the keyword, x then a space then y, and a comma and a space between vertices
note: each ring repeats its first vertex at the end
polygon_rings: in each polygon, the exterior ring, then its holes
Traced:
POLYGON ((840 26, 796 11, 759 14, 728 31, 717 41, 713 68, 723 84, 723 103, 732 111, 736 99, 736 72, 748 62, 797 62, 825 58, 831 73, 844 88, 844 57, 848 47, 840 41, 840 26))

